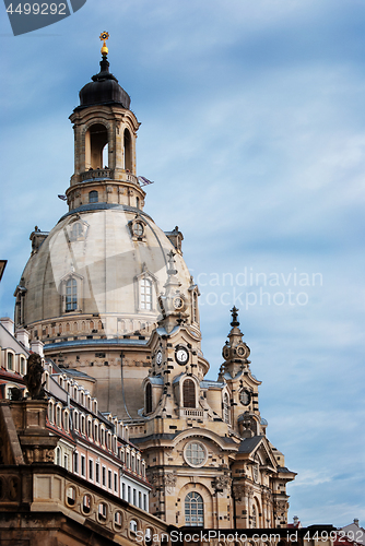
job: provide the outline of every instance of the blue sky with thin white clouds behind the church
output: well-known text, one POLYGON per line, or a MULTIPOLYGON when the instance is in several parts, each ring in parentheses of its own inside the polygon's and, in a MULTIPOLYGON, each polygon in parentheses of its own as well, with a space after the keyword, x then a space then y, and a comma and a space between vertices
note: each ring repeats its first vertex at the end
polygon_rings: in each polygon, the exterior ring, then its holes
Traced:
POLYGON ((0 21, 1 313, 34 226, 66 212, 68 116, 106 29, 145 211, 182 230, 200 285, 210 378, 235 302, 305 525, 365 523, 364 28, 363 0, 87 0, 17 37, 0 21))

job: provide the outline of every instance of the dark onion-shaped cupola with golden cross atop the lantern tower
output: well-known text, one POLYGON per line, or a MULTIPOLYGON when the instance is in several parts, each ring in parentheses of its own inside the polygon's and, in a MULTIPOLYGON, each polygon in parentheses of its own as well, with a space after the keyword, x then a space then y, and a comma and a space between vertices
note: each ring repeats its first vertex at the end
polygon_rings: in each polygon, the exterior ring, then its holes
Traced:
POLYGON ((93 75, 93 81, 86 83, 80 91, 80 106, 78 106, 78 108, 93 105, 118 104, 122 106, 122 108, 129 110, 130 96, 119 85, 116 76, 109 72, 109 62, 107 60, 108 48, 105 45, 108 33, 102 33, 101 38, 104 40, 102 47, 103 59, 101 60, 101 71, 98 74, 93 75))

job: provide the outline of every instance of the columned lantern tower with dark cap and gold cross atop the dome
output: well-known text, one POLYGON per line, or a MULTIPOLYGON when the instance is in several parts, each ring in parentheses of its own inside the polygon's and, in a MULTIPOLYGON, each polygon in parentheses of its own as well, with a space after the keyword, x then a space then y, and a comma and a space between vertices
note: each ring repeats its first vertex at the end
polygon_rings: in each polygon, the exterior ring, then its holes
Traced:
POLYGON ((74 174, 67 190, 69 210, 114 203, 143 210, 145 192, 137 178, 136 139, 140 126, 130 97, 109 72, 102 34, 101 71, 80 91, 70 120, 74 130, 74 174))

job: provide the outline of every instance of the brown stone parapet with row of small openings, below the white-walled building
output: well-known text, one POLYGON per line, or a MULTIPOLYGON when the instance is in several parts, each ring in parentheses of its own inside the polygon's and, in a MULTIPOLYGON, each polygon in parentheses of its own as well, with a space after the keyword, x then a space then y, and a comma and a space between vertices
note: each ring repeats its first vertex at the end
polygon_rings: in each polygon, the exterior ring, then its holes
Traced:
POLYGON ((157 518, 54 464, 0 467, 0 512, 14 511, 62 513, 117 544, 167 533, 157 518))

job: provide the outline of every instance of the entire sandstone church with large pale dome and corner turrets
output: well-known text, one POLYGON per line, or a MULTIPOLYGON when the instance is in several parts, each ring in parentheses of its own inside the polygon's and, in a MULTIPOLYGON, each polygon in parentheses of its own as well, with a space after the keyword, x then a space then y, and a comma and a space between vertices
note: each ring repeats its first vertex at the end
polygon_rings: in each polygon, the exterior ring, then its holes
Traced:
POLYGON ((184 237, 144 210, 140 123, 109 71, 108 34, 101 38, 99 72, 70 116, 69 210, 49 233, 31 234, 15 329, 128 426, 152 486, 151 514, 178 527, 284 529, 295 473, 267 438, 238 309, 222 332, 219 376, 208 379, 184 237))

